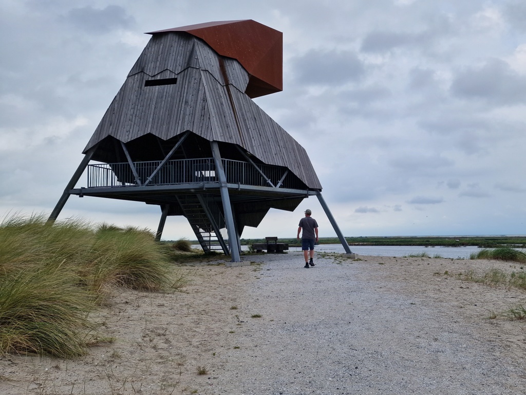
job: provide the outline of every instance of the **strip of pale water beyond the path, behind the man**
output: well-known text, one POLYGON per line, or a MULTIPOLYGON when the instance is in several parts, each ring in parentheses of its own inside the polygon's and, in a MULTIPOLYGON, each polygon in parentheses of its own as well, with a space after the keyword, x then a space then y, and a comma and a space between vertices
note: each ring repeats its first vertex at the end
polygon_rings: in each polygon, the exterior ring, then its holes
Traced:
MULTIPOLYGON (((244 245, 243 250, 248 249, 244 245)), ((423 245, 352 245, 350 246, 352 252, 358 255, 372 255, 372 256, 408 256, 417 255, 422 252, 427 253, 431 258, 434 255, 440 255, 442 258, 463 258, 469 259, 471 253, 479 252, 481 248, 476 246, 466 247, 424 247, 423 245)), ((289 251, 301 251, 301 247, 290 247, 289 251)), ((315 247, 317 252, 336 252, 345 253, 341 244, 320 244, 315 247)))

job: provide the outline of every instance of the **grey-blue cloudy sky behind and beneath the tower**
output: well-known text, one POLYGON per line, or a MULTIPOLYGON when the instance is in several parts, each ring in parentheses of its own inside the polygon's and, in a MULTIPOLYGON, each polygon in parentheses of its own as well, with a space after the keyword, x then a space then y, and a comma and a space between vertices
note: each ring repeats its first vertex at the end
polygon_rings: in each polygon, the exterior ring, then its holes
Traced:
MULTIPOLYGON (((0 219, 50 213, 144 32, 234 19, 283 32, 284 91, 256 102, 307 150, 343 234, 526 234, 521 0, 0 0, 0 219)), ((242 237, 294 237, 307 208, 335 235, 310 197, 242 237)), ((72 196, 59 219, 159 216, 72 196)))

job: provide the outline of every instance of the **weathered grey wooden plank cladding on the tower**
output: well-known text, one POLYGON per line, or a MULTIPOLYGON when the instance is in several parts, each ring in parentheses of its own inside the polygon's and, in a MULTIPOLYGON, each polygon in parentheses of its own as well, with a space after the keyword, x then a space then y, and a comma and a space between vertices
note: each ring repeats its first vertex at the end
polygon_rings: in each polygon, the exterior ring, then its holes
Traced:
MULTIPOLYGON (((84 151, 108 136, 124 143, 147 134, 168 141, 190 131, 208 141, 238 145, 262 163, 286 167, 309 189, 321 190, 304 147, 245 93, 249 78, 237 60, 221 58, 199 38, 184 32, 156 34, 84 151)), ((100 159, 120 162, 97 152, 93 160, 100 159)))

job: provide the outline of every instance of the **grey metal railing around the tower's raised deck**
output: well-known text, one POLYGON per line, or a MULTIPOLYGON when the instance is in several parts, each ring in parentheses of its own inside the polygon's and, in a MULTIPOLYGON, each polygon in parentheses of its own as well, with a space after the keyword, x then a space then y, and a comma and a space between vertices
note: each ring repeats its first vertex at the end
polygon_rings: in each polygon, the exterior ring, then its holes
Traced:
MULTIPOLYGON (((153 174, 160 163, 160 161, 134 162, 135 171, 127 162, 90 164, 87 171, 87 186, 96 188, 138 186, 146 183, 148 185, 170 185, 218 182, 213 158, 167 161, 163 167, 153 174)), ((222 160, 222 166, 229 184, 274 185, 291 189, 305 189, 303 183, 291 173, 287 173, 286 167, 258 164, 258 171, 251 163, 228 159, 222 160)))

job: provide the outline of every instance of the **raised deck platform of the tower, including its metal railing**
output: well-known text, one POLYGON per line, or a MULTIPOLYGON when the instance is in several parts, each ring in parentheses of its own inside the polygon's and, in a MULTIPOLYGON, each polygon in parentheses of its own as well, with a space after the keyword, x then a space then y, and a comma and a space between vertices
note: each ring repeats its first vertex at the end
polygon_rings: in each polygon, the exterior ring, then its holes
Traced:
MULTIPOLYGON (((285 167, 222 159, 229 193, 234 200, 289 199, 315 195, 285 167), (237 197, 236 197, 237 196, 237 197)), ((213 158, 163 163, 98 163, 87 166, 87 186, 69 191, 91 195, 166 203, 173 193, 219 193, 221 184, 213 158)))

